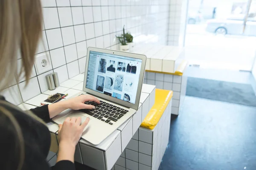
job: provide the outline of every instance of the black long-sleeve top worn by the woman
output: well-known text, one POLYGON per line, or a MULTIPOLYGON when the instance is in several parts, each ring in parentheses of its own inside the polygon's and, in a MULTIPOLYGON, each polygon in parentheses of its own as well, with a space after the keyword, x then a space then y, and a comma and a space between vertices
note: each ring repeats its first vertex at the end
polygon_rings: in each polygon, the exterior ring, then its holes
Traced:
MULTIPOLYGON (((5 98, 0 96, 0 100, 5 100, 5 98)), ((49 153, 51 140, 49 130, 45 125, 19 109, 15 109, 15 105, 13 105, 14 108, 2 103, 0 106, 12 113, 21 128, 25 144, 25 159, 22 170, 75 170, 75 164, 71 161, 58 161, 54 167, 49 167, 46 158, 49 153)), ((48 105, 31 109, 31 111, 45 122, 50 120, 48 105)), ((0 112, 0 118, 1 116, 3 116, 3 113, 0 112)), ((4 120, 0 119, 0 136, 2 138, 0 139, 0 152, 5 153, 4 158, 0 160, 0 167, 3 168, 3 170, 12 170, 10 164, 12 165, 11 161, 13 161, 15 157, 11 152, 13 150, 10 149, 15 147, 13 146, 15 142, 12 141, 12 136, 7 134, 9 129, 10 127, 5 125, 4 120), (9 167, 5 169, 4 165, 6 165, 8 161, 11 163, 9 163, 9 167)), ((15 162, 13 162, 13 164, 15 164, 15 162)))

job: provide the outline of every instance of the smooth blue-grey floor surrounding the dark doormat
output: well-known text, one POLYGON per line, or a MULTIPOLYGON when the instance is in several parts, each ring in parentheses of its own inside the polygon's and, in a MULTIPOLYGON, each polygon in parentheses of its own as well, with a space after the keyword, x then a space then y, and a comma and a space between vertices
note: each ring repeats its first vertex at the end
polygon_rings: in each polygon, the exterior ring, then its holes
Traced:
MULTIPOLYGON (((189 77, 251 84, 251 73, 189 67, 189 77)), ((186 96, 159 170, 255 170, 256 107, 186 96)))

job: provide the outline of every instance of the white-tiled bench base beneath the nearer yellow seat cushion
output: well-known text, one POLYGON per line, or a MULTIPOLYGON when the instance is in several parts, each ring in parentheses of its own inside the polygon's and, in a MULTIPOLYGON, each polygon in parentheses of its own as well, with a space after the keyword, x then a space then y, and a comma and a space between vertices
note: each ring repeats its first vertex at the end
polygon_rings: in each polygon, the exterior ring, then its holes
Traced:
POLYGON ((154 129, 140 127, 137 130, 122 155, 116 161, 114 170, 158 169, 169 142, 171 110, 172 100, 168 103, 154 129))

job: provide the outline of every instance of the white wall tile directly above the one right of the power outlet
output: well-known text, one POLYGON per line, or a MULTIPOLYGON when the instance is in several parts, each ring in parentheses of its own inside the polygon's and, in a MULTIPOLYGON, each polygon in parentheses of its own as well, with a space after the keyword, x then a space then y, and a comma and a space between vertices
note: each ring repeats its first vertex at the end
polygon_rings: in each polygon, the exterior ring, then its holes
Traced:
POLYGON ((46 30, 46 35, 50 50, 63 46, 60 28, 46 30))

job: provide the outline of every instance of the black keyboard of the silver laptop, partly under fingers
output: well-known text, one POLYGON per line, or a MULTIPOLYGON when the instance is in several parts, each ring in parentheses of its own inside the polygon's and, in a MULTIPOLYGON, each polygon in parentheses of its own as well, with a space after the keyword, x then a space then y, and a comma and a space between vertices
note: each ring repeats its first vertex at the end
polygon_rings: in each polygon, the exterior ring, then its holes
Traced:
POLYGON ((101 120, 102 122, 113 125, 112 122, 117 122, 122 116, 128 113, 128 110, 119 108, 115 105, 111 105, 107 102, 100 101, 100 104, 96 102, 84 102, 87 105, 95 106, 94 110, 81 109, 80 111, 101 120), (112 121, 112 122, 111 122, 112 121))

